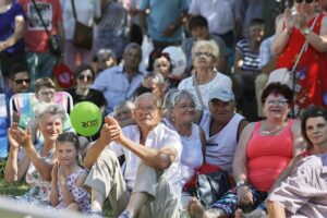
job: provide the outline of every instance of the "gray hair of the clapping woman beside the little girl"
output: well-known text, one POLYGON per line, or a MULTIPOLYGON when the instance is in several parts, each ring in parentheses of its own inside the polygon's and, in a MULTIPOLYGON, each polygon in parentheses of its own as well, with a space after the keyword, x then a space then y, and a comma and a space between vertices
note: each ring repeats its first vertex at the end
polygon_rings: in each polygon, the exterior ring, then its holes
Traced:
POLYGON ((62 106, 53 102, 41 102, 35 109, 35 119, 40 122, 46 113, 59 114, 62 123, 65 121, 65 111, 62 106))

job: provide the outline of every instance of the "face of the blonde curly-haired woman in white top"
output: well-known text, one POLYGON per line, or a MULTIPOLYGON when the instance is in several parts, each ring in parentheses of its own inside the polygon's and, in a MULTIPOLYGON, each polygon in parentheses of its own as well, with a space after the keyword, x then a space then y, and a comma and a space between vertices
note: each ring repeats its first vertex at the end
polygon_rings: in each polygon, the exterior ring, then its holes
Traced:
POLYGON ((216 63, 213 49, 201 47, 193 53, 193 65, 195 69, 214 69, 216 63))

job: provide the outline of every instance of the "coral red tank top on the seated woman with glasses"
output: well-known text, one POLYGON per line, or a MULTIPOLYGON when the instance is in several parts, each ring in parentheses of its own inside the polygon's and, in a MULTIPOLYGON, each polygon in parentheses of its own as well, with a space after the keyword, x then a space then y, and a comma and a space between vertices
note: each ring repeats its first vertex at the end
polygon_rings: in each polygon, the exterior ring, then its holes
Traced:
POLYGON ((293 137, 290 120, 278 135, 261 135, 261 122, 255 124, 246 148, 247 181, 256 190, 268 192, 280 172, 293 158, 293 137))

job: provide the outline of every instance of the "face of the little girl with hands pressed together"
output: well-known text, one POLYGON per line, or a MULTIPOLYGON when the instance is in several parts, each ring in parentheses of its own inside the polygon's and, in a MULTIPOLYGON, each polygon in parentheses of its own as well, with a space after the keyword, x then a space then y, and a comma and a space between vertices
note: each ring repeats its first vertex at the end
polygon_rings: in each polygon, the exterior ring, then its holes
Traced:
POLYGON ((60 142, 56 145, 56 152, 60 165, 73 166, 77 164, 77 150, 71 142, 60 142))

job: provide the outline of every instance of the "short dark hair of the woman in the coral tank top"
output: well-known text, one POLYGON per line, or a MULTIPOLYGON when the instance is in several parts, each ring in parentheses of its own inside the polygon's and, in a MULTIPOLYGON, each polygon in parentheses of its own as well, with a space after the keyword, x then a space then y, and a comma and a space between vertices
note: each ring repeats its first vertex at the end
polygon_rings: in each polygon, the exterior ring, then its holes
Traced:
POLYGON ((291 88, 281 83, 270 83, 267 85, 267 87, 264 89, 263 95, 262 95, 262 104, 264 105, 267 97, 269 95, 282 95, 287 100, 288 104, 292 104, 292 98, 293 98, 293 92, 291 88))

